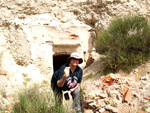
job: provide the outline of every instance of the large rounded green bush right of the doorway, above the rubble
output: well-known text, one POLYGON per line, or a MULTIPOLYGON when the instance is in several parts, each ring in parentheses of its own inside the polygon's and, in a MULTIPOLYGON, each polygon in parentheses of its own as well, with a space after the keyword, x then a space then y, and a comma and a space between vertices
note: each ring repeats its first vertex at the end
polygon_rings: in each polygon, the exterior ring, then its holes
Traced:
POLYGON ((107 30, 97 32, 96 50, 106 55, 104 72, 130 72, 150 59, 150 25, 140 16, 113 20, 107 30))

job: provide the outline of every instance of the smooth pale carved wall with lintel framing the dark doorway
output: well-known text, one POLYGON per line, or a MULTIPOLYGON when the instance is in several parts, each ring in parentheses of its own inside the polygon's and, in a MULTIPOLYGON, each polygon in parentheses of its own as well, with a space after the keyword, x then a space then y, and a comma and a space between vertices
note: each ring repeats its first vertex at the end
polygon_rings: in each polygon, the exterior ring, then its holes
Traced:
POLYGON ((57 67, 54 64, 58 61, 55 61, 56 57, 69 56, 75 51, 79 52, 84 59, 81 64, 81 67, 84 68, 95 38, 92 37, 93 32, 90 32, 90 27, 69 27, 58 30, 50 26, 36 25, 31 28, 24 27, 24 31, 30 43, 31 59, 45 76, 52 75, 54 65, 57 67))

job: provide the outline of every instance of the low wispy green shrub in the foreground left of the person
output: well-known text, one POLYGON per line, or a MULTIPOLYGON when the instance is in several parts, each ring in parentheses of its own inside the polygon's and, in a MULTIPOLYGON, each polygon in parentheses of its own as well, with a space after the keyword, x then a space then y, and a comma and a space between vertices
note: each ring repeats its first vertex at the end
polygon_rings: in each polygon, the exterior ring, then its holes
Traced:
POLYGON ((41 91, 38 85, 21 89, 19 102, 12 108, 13 113, 66 113, 62 106, 55 106, 52 90, 41 91))

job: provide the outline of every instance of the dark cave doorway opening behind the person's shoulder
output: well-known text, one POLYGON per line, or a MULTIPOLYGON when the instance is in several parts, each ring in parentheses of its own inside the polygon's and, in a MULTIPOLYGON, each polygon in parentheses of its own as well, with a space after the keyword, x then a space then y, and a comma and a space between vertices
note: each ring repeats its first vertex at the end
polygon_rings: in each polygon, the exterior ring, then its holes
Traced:
POLYGON ((63 64, 67 63, 67 58, 70 55, 56 55, 53 56, 53 69, 54 72, 58 70, 63 64))

